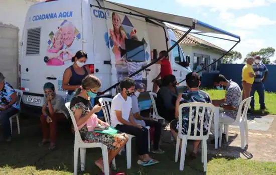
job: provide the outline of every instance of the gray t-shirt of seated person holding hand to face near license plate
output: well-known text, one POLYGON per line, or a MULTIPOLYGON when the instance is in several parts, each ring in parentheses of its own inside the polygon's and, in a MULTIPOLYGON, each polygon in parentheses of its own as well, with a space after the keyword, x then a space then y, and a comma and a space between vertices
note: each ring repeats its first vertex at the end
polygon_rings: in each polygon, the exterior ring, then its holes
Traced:
MULTIPOLYGON (((65 101, 61 95, 56 94, 55 98, 51 100, 51 104, 56 113, 64 113, 66 118, 69 117, 67 108, 65 107, 65 101)), ((44 105, 48 108, 48 103, 47 103, 46 97, 44 97, 44 105)))

